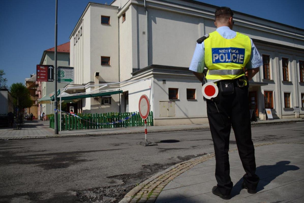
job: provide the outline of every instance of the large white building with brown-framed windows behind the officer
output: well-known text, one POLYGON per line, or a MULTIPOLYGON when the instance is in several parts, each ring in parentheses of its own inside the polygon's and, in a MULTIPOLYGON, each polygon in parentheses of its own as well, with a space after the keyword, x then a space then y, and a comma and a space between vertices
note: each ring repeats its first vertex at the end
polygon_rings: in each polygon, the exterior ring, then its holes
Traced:
MULTIPOLYGON (((188 66, 196 40, 216 30, 216 8, 192 0, 89 3, 70 36, 75 84, 69 86, 151 80, 121 84, 123 93, 112 95, 111 104, 82 99, 80 112, 138 111, 146 94, 154 125, 208 122, 202 86, 188 66)), ((277 119, 304 117, 304 30, 240 12, 233 19, 233 30, 253 39, 263 57, 250 81, 248 103, 256 116, 266 119, 270 108, 277 119)))

